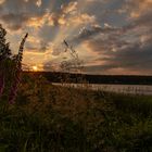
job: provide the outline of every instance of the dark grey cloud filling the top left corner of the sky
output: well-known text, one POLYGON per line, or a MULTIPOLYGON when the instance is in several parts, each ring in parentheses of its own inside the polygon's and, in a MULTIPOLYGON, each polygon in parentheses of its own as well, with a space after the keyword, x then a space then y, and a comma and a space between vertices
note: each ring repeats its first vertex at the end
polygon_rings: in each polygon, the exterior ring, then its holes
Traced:
POLYGON ((10 29, 17 30, 25 27, 31 17, 42 16, 45 10, 40 10, 36 4, 37 0, 5 0, 0 5, 0 20, 10 29))

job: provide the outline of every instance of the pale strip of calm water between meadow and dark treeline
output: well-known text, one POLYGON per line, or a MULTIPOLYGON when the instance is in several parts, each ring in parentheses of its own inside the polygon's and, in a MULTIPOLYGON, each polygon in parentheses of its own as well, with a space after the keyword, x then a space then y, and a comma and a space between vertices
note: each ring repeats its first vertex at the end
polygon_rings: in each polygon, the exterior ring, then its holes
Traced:
POLYGON ((152 86, 147 85, 97 85, 97 84, 59 84, 55 86, 72 87, 78 89, 102 90, 107 92, 128 93, 128 94, 152 94, 152 86))

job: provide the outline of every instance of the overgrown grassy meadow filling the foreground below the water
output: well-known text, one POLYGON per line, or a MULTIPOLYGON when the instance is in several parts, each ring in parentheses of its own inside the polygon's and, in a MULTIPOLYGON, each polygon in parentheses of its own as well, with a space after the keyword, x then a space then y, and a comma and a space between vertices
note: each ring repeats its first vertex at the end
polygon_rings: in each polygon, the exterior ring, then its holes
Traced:
POLYGON ((0 101, 0 152, 151 152, 152 97, 52 86, 25 76, 0 101))

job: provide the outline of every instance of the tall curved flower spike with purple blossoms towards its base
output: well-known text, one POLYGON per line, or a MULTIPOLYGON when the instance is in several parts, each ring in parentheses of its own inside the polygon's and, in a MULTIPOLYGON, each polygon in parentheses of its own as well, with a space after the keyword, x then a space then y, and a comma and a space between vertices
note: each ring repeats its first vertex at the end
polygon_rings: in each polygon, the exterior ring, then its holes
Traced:
POLYGON ((14 59, 15 71, 14 71, 14 80, 13 80, 13 84, 11 86, 11 91, 10 91, 10 96, 9 96, 9 103, 10 104, 14 103, 16 92, 17 92, 17 87, 18 87, 20 81, 21 81, 23 50, 24 50, 24 43, 26 41, 27 36, 28 36, 28 34, 26 34, 25 37, 23 38, 21 46, 20 46, 20 49, 18 49, 18 54, 14 59))

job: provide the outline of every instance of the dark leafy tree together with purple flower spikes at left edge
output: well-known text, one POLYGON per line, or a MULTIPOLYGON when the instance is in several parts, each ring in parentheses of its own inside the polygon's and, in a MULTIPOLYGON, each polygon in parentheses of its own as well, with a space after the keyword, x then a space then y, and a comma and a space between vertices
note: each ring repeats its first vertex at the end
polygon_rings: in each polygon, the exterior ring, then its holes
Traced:
POLYGON ((13 103, 21 81, 23 49, 28 34, 23 38, 16 55, 12 55, 5 35, 7 30, 0 25, 0 97, 9 88, 7 98, 9 103, 13 103))

